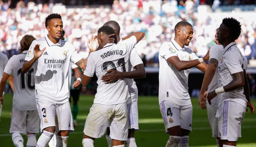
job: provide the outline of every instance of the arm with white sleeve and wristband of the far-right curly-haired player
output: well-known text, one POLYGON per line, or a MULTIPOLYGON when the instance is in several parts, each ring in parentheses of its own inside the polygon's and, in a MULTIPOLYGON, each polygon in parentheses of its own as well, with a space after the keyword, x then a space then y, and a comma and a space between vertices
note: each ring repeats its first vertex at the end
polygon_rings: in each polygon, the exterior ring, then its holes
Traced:
POLYGON ((239 55, 235 52, 229 52, 229 54, 224 58, 224 63, 232 74, 233 80, 226 86, 219 87, 210 92, 207 96, 209 104, 211 104, 211 99, 216 97, 217 94, 234 91, 244 86, 244 74, 239 55))

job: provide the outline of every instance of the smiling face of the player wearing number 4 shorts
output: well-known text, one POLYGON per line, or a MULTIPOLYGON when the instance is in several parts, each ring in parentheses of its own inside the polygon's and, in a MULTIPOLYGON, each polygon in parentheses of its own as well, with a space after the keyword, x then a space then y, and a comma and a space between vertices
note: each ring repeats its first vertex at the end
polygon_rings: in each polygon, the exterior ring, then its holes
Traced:
POLYGON ((193 28, 191 26, 183 27, 181 30, 181 37, 183 41, 183 45, 188 46, 190 40, 193 38, 193 28))

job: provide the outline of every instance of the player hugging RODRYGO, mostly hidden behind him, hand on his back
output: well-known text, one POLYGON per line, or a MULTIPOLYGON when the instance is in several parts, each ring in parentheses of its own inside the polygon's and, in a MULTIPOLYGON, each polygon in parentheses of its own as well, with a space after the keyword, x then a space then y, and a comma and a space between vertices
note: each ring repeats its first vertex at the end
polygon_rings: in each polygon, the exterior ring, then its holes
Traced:
MULTIPOLYGON (((115 44, 122 43, 123 40, 128 37, 120 38, 120 26, 116 21, 108 21, 103 26, 110 26, 115 31, 115 44)), ((98 48, 99 50, 99 48, 98 48)), ((118 72, 116 70, 108 70, 111 72, 110 74, 102 76, 103 82, 111 83, 120 78, 128 78, 126 79, 128 85, 129 95, 127 98, 127 109, 128 109, 128 140, 125 141, 126 147, 137 147, 134 133, 139 130, 139 115, 138 115, 138 89, 136 86, 136 82, 133 81, 135 78, 145 78, 146 71, 143 66, 143 62, 138 55, 136 48, 132 49, 131 54, 129 56, 127 72, 118 72)), ((109 147, 112 147, 112 139, 110 138, 110 124, 107 128, 106 140, 108 142, 109 147)))

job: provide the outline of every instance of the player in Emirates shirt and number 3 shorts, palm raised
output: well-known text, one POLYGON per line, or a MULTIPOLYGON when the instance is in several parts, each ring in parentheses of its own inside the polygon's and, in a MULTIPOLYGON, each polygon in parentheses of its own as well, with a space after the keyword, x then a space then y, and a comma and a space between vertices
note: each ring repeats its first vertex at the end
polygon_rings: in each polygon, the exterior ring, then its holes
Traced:
POLYGON ((59 132, 56 146, 67 146, 69 131, 73 131, 73 119, 69 104, 70 61, 80 68, 86 60, 75 51, 70 42, 61 40, 63 23, 59 14, 45 19, 48 35, 34 40, 28 50, 22 72, 34 68, 35 98, 41 119, 41 132, 37 146, 46 147, 55 132, 55 115, 59 132))

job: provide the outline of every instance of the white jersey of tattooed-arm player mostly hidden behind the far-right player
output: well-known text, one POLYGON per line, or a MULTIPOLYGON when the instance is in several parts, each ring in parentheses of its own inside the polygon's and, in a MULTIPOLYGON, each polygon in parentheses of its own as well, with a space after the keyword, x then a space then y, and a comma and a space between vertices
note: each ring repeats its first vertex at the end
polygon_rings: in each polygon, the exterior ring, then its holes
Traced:
MULTIPOLYGON (((210 49, 209 61, 210 61, 211 58, 214 58, 217 61, 219 61, 219 59, 221 59, 221 55, 223 53, 223 50, 224 49, 223 49, 222 45, 213 45, 210 49)), ((218 68, 216 68, 216 70, 215 70, 214 76, 212 78, 212 82, 209 84, 207 92, 214 91, 216 88, 218 88, 218 68)), ((217 107, 217 108, 218 108, 218 96, 219 96, 219 94, 211 100, 211 105, 214 106, 214 107, 217 107)))

